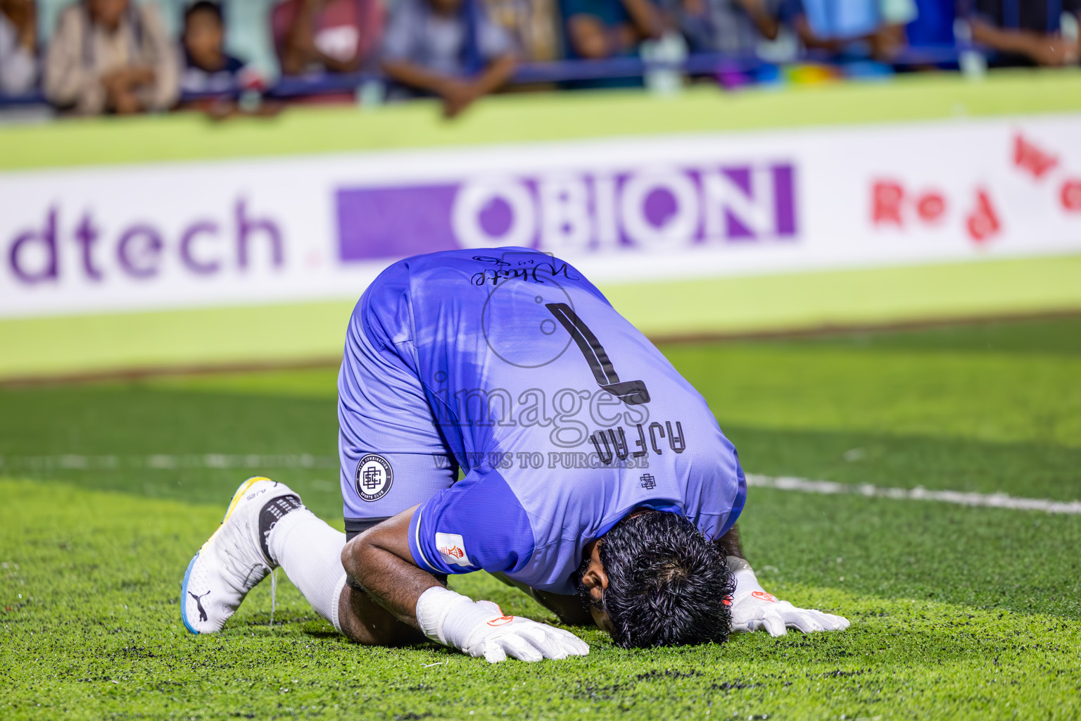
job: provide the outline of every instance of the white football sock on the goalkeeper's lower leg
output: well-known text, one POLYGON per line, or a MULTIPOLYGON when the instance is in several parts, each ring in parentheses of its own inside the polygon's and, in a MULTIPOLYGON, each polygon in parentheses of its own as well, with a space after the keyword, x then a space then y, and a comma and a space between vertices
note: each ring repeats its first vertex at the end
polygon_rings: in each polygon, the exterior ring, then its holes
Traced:
POLYGON ((345 588, 345 534, 307 508, 285 513, 267 535, 267 548, 319 615, 338 631, 338 598, 345 588))

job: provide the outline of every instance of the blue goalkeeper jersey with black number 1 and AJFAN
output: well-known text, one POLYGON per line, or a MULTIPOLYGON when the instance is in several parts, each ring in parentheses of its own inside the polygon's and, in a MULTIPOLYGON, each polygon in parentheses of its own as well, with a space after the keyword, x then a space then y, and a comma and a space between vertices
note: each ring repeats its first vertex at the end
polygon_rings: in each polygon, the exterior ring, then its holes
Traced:
POLYGON ((421 255, 358 312, 424 389, 431 417, 400 424, 433 420, 465 473, 413 515, 422 569, 574 593, 585 545, 637 507, 709 537, 739 516, 743 469, 705 399, 570 264, 519 248, 421 255))

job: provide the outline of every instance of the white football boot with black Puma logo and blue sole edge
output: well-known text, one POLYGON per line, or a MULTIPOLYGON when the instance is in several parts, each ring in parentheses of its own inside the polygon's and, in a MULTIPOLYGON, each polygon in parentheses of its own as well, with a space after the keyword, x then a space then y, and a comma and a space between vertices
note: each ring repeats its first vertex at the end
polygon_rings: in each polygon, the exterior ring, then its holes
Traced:
POLYGON ((254 477, 240 484, 222 525, 202 545, 184 574, 181 619, 192 633, 215 633, 248 591, 277 568, 263 552, 259 511, 270 500, 297 494, 284 483, 254 477))

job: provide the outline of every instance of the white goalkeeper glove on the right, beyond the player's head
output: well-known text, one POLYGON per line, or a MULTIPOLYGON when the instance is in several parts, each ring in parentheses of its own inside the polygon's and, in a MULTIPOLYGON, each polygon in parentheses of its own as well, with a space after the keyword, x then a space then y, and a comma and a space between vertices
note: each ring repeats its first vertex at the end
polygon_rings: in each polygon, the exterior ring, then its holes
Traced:
POLYGON ((842 616, 815 609, 797 609, 788 601, 777 600, 759 585, 750 564, 742 558, 730 556, 729 570, 736 580, 731 609, 733 631, 750 632, 764 628, 770 636, 784 636, 789 628, 810 633, 841 631, 849 627, 849 619, 842 616))

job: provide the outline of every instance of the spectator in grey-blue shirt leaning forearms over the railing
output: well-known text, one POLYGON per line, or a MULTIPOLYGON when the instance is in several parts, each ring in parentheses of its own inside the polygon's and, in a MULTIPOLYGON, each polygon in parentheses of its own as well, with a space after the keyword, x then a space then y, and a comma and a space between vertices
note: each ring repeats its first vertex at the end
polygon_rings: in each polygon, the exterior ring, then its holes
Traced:
POLYGON ((383 39, 391 98, 436 95, 453 118, 515 74, 510 37, 478 0, 397 0, 383 39))

